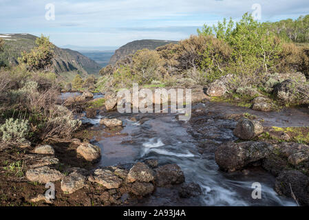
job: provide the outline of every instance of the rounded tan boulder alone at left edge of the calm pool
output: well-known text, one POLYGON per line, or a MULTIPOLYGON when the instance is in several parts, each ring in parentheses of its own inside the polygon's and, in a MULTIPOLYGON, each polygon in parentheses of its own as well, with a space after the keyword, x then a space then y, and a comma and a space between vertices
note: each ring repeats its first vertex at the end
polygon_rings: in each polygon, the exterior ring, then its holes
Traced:
POLYGON ((101 157, 100 148, 90 143, 82 143, 76 149, 76 153, 81 155, 84 159, 86 159, 89 162, 98 162, 101 157))

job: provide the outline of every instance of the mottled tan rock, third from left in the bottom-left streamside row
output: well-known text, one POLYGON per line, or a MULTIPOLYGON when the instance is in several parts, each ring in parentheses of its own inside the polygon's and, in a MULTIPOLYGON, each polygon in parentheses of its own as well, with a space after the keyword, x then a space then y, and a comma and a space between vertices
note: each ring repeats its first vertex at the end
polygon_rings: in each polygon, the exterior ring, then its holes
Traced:
POLYGON ((101 184, 107 189, 119 188, 122 184, 122 179, 117 177, 111 170, 97 169, 94 171, 94 181, 101 184))

